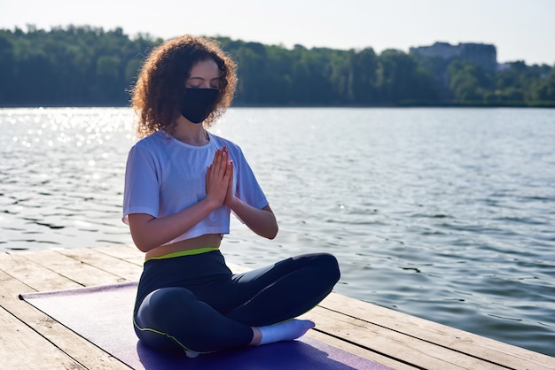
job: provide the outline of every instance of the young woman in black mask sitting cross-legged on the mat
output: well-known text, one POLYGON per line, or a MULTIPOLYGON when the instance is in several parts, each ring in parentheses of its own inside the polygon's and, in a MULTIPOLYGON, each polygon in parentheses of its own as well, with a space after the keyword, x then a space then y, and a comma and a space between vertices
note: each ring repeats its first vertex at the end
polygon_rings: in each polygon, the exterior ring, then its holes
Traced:
POLYGON ((232 274, 219 251, 231 211, 273 239, 277 221, 238 145, 207 131, 231 104, 236 66, 210 39, 184 35, 152 50, 132 93, 140 139, 129 151, 123 221, 145 252, 134 324, 159 350, 190 357, 293 340, 340 278, 327 253, 232 274))

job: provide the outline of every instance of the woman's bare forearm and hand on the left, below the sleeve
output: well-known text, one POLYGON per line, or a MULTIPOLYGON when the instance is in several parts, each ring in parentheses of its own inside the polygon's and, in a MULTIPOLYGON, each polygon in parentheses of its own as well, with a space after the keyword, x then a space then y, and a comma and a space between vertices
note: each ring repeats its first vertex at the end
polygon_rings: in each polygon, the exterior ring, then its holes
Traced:
POLYGON ((157 219, 146 213, 129 214, 129 230, 140 251, 150 251, 182 235, 223 204, 233 175, 227 149, 216 150, 207 169, 207 197, 181 212, 157 219))

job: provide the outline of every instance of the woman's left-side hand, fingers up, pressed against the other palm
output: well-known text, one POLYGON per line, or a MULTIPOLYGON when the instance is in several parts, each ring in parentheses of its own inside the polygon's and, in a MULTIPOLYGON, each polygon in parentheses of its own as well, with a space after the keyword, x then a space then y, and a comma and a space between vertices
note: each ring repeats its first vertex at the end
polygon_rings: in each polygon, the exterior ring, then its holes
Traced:
POLYGON ((233 164, 227 147, 215 151, 212 165, 207 169, 207 200, 215 208, 220 207, 231 193, 233 164))

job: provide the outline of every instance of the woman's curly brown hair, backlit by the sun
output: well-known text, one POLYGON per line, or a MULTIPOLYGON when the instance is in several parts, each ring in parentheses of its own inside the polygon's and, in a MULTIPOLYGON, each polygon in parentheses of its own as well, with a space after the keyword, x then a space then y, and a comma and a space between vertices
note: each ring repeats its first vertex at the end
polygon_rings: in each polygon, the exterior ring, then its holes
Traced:
POLYGON ((221 81, 215 111, 203 122, 205 128, 211 127, 233 101, 237 85, 235 62, 215 40, 192 35, 176 37, 152 50, 131 89, 131 105, 138 116, 138 138, 176 127, 179 97, 184 93, 192 66, 209 59, 217 64, 221 81))

